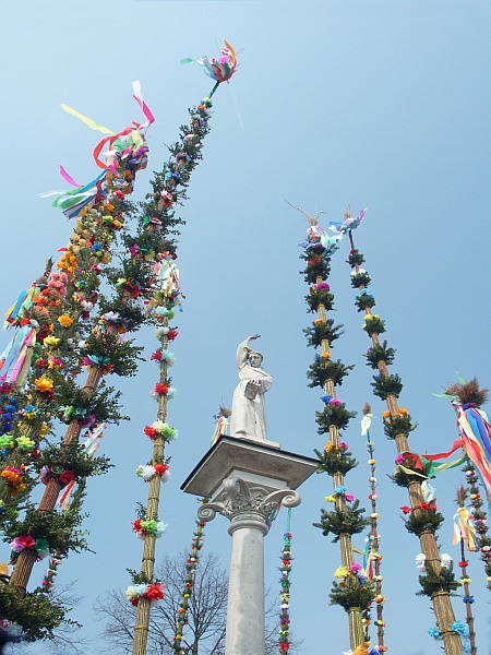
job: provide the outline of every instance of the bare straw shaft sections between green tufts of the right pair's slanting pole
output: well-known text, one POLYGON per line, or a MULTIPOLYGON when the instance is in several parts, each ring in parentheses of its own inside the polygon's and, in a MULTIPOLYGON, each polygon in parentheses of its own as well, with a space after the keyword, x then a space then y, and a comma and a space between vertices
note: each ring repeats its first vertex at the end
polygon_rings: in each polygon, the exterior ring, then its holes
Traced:
MULTIPOLYGON (((358 251, 355 250, 352 238, 350 234, 351 241, 351 253, 359 254, 358 251)), ((350 257, 351 260, 351 257, 350 257)), ((359 263, 356 262, 350 264, 355 272, 358 274, 360 271, 359 263)), ((368 283, 367 283, 368 284, 368 283)), ((367 284, 354 285, 359 291, 362 291, 367 284)), ((371 308, 364 307, 366 317, 371 315, 371 308)), ((367 321, 367 325, 370 325, 370 321, 367 321)), ((375 332, 369 332, 370 338, 372 340, 373 346, 379 346, 379 335, 375 332)), ((388 377, 388 369, 385 361, 379 361, 378 364, 379 372, 382 377, 388 377)), ((395 394, 391 393, 386 396, 387 408, 392 418, 397 418, 399 416, 399 407, 397 404, 397 397, 395 394)), ((396 436, 396 445, 398 453, 405 453, 409 451, 408 444, 408 436, 407 434, 397 434, 396 436)), ((419 513, 421 502, 423 502, 423 496, 421 491, 421 485, 417 481, 411 481, 408 485, 409 491, 409 500, 411 503, 411 508, 416 513, 419 513)), ((436 574, 440 573, 441 570, 441 561, 440 561, 440 551, 436 543, 436 537, 432 532, 424 531, 419 536, 421 543, 421 550, 426 556, 426 561, 431 562, 436 574)), ((455 622, 455 615, 452 608, 450 593, 445 591, 436 592, 432 596, 434 615, 436 618, 436 623, 442 633, 443 645, 445 648, 446 655, 462 655, 462 641, 460 636, 450 628, 451 623, 455 622)))

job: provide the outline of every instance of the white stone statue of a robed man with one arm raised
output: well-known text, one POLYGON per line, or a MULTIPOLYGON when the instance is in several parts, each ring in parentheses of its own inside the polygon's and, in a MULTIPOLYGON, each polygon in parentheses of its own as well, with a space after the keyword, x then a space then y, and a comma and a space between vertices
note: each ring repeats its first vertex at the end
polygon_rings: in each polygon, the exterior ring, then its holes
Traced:
POLYGON ((248 336, 237 348, 239 384, 233 392, 230 436, 241 439, 267 440, 264 394, 271 389, 273 377, 261 367, 261 353, 249 346, 259 336, 248 336))

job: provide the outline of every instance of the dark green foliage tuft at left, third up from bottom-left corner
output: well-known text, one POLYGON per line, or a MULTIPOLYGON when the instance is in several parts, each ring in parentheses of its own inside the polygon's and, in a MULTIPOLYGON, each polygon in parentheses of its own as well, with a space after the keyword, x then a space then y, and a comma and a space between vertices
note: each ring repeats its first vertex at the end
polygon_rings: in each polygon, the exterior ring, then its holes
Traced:
POLYGON ((34 465, 38 471, 43 466, 47 466, 48 468, 59 466, 71 471, 75 475, 76 480, 92 475, 103 475, 112 466, 108 457, 88 457, 85 448, 76 441, 61 446, 55 444, 46 445, 41 450, 40 457, 34 462, 34 465))

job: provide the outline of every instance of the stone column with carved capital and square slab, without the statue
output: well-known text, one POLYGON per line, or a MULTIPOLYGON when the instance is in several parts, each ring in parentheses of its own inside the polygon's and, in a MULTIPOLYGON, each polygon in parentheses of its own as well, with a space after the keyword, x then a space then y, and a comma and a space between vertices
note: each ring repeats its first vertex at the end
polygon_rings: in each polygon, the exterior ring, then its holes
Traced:
POLYGON ((311 457, 220 437, 181 487, 209 499, 202 521, 217 513, 230 521, 226 655, 264 655, 264 537, 279 503, 300 504, 296 489, 316 468, 311 457))

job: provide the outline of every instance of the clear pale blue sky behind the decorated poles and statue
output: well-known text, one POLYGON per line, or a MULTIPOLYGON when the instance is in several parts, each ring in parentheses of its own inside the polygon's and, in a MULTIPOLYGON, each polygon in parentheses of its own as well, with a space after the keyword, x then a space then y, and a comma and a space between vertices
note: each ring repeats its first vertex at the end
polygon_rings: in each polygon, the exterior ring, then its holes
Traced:
MULTIPOLYGON (((118 130, 140 117, 131 82, 141 81, 156 117, 148 133, 151 165, 137 179, 136 196, 143 196, 151 170, 167 156, 164 144, 176 139, 187 108, 211 90, 202 71, 180 67, 180 59, 214 56, 224 38, 239 52, 232 84, 215 96, 204 160, 182 211, 187 225, 179 262, 187 302, 176 321, 178 396, 169 407, 169 422, 180 437, 168 449, 172 477, 164 488, 160 517, 169 527, 157 557, 189 543, 196 504, 179 486, 208 448, 218 405, 231 402, 235 350, 247 335, 262 334, 258 347, 275 378, 267 395, 270 439, 306 455, 325 441, 314 422, 322 394, 307 388, 313 350, 301 332, 312 320, 298 274, 297 245, 307 224, 286 200, 308 212, 325 210, 326 221, 338 219, 348 204, 356 212, 370 206, 356 243, 367 257, 387 340, 397 348, 393 371, 405 383, 400 404, 419 422, 410 445, 419 452, 450 448, 456 438, 453 412, 431 393, 453 382, 456 371, 491 383, 488 2, 0 0, 0 307, 5 309, 72 229, 39 198, 63 188, 58 165, 81 182, 94 177, 97 134, 65 115, 60 103, 118 130)), ((345 324, 333 353, 357 365, 340 397, 359 410, 372 400, 370 370, 361 356, 369 340, 354 307, 347 252, 344 243, 333 259, 336 318, 345 324)), ((3 335, 3 344, 8 338, 3 335)), ((149 355, 155 346, 151 331, 137 338, 149 355)), ((131 521, 147 488, 134 469, 149 457, 142 429, 155 417, 148 397, 155 377, 147 362, 136 382, 120 384, 132 420, 107 430, 104 450, 116 468, 91 480, 86 503, 86 527, 97 555, 73 555, 60 570, 60 582, 76 580, 76 593, 85 596, 74 618, 94 638, 87 653, 104 647, 91 610, 94 599, 109 588, 125 588, 125 569, 140 568, 142 543, 131 521)), ((383 436, 383 409, 381 402, 373 403, 386 643, 397 655, 430 655, 440 652, 440 644, 427 634, 434 624, 428 600, 415 596, 419 545, 399 517, 407 495, 386 478, 396 452, 383 436)), ((357 420, 345 439, 360 462, 347 477, 348 490, 368 503, 368 456, 357 420)), ((442 551, 456 561, 452 515, 460 479, 454 472, 435 480, 439 508, 447 519, 440 532, 442 551)), ((327 598, 338 547, 312 527, 331 489, 328 477, 311 478, 292 517, 292 629, 304 639, 306 653, 325 655, 348 650, 347 620, 343 610, 328 607, 327 598)), ((272 585, 277 584, 285 521, 280 514, 266 538, 272 585)), ((206 547, 220 552, 224 563, 226 528, 221 516, 206 528, 206 547)), ((355 545, 361 547, 362 539, 355 545)), ((7 546, 4 551, 7 558, 7 546)), ((44 563, 37 571, 43 574, 44 563)), ((484 655, 489 594, 477 557, 470 575, 484 655)), ((463 620, 462 598, 454 607, 463 620)), ((39 652, 46 653, 46 646, 39 652)))

